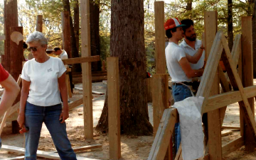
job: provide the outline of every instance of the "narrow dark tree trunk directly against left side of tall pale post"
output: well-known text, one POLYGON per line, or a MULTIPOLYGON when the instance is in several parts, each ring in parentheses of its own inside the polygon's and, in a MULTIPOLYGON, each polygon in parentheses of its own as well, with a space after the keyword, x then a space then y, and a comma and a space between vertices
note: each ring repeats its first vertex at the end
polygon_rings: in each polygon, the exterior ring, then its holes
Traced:
MULTIPOLYGON (((75 42, 76 42, 76 47, 79 53, 79 1, 75 1, 75 6, 74 6, 74 32, 75 32, 75 42)), ((78 54, 79 55, 79 54, 78 54)))

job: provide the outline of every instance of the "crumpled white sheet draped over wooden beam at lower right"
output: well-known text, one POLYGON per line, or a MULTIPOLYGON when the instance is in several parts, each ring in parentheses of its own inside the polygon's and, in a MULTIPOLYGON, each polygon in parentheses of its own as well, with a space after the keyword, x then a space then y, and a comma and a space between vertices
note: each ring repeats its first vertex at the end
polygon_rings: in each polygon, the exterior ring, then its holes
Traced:
POLYGON ((173 105, 178 109, 184 160, 199 159, 203 156, 202 105, 203 97, 188 97, 173 105))

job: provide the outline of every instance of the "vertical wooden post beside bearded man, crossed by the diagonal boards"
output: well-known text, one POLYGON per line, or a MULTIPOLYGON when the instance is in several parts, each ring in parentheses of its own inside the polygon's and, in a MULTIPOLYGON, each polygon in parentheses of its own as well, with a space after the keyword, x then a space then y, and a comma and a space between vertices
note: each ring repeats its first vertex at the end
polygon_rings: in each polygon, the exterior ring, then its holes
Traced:
MULTIPOLYGON (((217 12, 205 12, 205 38, 206 38, 206 58, 209 57, 211 47, 217 33, 217 12)), ((218 74, 215 73, 213 86, 210 90, 210 96, 219 93, 218 74)), ((221 125, 220 125, 220 110, 213 110, 207 114, 208 119, 208 149, 210 159, 222 159, 221 146, 221 125)), ((207 136, 207 135, 206 135, 207 136)))

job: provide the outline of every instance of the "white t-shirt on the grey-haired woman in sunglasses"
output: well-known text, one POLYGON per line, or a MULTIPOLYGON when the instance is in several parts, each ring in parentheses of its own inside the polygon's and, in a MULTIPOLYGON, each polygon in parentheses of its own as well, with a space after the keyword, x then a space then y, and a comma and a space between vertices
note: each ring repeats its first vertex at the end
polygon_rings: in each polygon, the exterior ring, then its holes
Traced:
POLYGON ((50 57, 38 63, 33 58, 22 69, 21 79, 31 81, 27 101, 33 105, 50 106, 61 103, 58 78, 66 71, 61 59, 50 57))

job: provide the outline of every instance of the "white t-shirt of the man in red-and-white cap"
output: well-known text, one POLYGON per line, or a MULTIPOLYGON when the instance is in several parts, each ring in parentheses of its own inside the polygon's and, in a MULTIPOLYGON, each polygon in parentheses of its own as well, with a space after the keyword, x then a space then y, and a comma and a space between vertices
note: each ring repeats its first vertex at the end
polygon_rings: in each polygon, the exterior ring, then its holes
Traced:
POLYGON ((184 50, 174 42, 169 42, 165 49, 165 54, 167 69, 171 76, 171 81, 192 81, 192 79, 189 79, 186 76, 185 72, 181 68, 181 65, 178 63, 181 60, 181 58, 186 57, 184 50))

